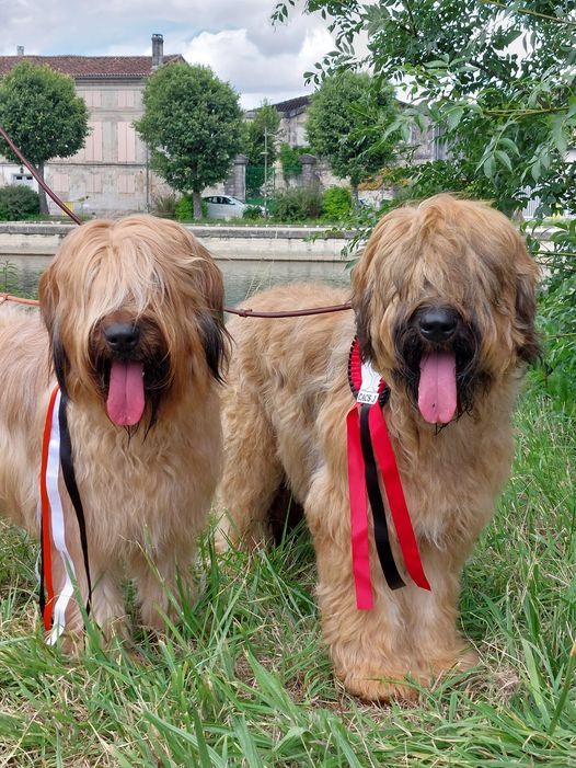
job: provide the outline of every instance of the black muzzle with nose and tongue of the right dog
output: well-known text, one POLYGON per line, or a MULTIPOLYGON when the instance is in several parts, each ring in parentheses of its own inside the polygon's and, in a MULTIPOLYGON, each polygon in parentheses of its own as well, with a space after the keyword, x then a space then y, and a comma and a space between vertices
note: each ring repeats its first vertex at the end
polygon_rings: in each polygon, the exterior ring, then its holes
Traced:
POLYGON ((481 366, 479 329, 452 307, 419 307, 398 324, 394 346, 394 380, 427 422, 442 425, 471 413, 489 387, 491 375, 481 366))

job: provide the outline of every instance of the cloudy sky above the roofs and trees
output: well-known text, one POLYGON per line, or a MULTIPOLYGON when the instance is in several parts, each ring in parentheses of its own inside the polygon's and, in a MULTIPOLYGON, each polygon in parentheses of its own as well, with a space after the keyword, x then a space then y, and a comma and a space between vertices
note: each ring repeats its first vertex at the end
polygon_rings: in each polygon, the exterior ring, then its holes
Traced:
POLYGON ((244 108, 264 99, 309 93, 302 73, 331 50, 320 18, 293 13, 274 27, 276 0, 0 0, 0 55, 151 55, 151 35, 164 54, 210 66, 241 95, 244 108))

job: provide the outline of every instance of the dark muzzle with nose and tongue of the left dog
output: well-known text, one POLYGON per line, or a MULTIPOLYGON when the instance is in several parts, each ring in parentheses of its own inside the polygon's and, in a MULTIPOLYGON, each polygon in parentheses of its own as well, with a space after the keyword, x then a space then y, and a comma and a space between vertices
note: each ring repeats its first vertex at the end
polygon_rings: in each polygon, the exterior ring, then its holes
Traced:
POLYGON ((170 355, 158 329, 112 323, 96 330, 91 343, 96 388, 110 420, 137 427, 148 415, 147 432, 158 421, 171 388, 170 355))

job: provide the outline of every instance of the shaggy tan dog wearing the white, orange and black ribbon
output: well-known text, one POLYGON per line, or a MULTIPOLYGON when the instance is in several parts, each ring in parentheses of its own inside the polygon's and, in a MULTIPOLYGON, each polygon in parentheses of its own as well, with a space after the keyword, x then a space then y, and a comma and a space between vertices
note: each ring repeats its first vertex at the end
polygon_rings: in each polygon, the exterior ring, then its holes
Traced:
MULTIPOLYGON (((66 238, 41 278, 39 300, 42 320, 0 308, 0 509, 37 531, 43 428, 57 379, 85 517, 92 617, 107 632, 126 631, 127 575, 142 623, 162 627, 170 594, 188 593, 195 540, 221 470, 221 274, 174 222, 95 220, 66 238)), ((62 497, 70 507, 66 491, 62 497)), ((76 517, 67 517, 85 604, 76 517)), ((66 574, 55 560, 57 600, 66 574)), ((81 629, 72 601, 71 642, 81 629)))

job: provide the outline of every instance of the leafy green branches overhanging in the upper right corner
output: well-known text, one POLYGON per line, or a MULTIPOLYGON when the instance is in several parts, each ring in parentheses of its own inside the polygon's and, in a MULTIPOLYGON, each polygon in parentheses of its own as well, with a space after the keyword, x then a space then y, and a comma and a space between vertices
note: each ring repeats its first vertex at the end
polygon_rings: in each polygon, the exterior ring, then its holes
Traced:
MULTIPOLYGON (((283 20, 297 0, 279 2, 283 20)), ((500 208, 527 198, 549 214, 574 207, 576 10, 573 0, 306 0, 336 47, 307 77, 369 67, 394 81, 406 107, 396 124, 434 124, 463 179, 484 175, 500 208), (360 34, 368 53, 356 55, 360 34)))

